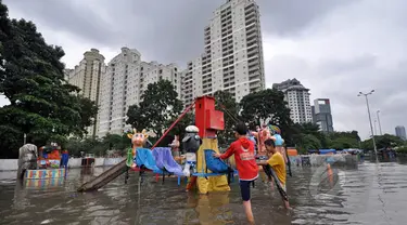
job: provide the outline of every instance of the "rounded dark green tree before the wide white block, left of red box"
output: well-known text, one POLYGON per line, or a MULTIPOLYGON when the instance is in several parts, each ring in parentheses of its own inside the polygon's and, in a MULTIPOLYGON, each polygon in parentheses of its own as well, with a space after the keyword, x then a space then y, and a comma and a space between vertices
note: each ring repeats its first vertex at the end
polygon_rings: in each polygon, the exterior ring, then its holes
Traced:
POLYGON ((162 136, 164 129, 177 119, 182 110, 182 102, 168 80, 150 83, 139 106, 130 106, 127 123, 137 130, 147 129, 162 136))

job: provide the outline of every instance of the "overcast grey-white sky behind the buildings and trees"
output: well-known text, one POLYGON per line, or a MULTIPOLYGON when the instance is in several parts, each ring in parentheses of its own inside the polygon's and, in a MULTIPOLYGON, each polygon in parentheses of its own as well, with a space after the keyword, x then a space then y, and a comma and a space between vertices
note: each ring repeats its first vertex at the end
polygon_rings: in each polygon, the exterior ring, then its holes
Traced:
MULTIPOLYGON (((107 62, 124 45, 143 61, 186 62, 203 52, 203 28, 226 0, 3 0, 10 16, 33 21, 74 67, 97 48, 107 62)), ((297 78, 311 101, 329 97, 334 129, 369 136, 381 110, 383 133, 407 125, 407 1, 258 0, 266 82, 297 78)), ((5 104, 0 100, 0 105, 5 104)), ((377 129, 379 132, 379 128, 377 129)))

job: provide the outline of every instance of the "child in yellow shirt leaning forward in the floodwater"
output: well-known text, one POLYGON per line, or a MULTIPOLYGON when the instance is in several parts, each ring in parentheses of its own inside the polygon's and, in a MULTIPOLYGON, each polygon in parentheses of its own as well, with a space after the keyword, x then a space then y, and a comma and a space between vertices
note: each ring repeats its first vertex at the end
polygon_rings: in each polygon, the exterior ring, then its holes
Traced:
POLYGON ((271 170, 275 172, 278 180, 276 181, 277 188, 282 197, 284 207, 285 209, 291 210, 285 188, 287 171, 284 157, 276 149, 276 144, 271 138, 266 140, 264 144, 267 153, 271 156, 268 160, 259 161, 258 164, 271 167, 271 170))

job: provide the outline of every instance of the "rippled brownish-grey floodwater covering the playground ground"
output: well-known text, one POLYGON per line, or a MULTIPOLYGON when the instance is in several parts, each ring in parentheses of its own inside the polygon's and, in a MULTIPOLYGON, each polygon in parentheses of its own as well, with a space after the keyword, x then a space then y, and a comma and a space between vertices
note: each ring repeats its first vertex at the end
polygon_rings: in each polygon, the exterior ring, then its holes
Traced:
MULTIPOLYGON (((96 193, 78 194, 76 187, 105 169, 69 170, 66 181, 42 187, 16 184, 15 172, 0 172, 0 224, 246 224, 238 183, 230 193, 198 195, 154 178, 139 186, 130 173, 96 193), (53 186, 53 187, 52 187, 53 186)), ((364 162, 357 168, 294 167, 288 177, 292 212, 260 181, 252 191, 256 224, 406 224, 407 164, 364 162), (332 178, 330 178, 332 177, 332 178)))

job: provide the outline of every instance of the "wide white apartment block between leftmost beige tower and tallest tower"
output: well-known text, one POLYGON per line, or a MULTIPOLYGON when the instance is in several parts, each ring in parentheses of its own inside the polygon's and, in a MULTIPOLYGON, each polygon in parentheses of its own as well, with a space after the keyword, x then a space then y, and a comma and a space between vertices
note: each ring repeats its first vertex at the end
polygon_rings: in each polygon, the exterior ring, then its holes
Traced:
POLYGON ((145 63, 135 49, 122 48, 107 67, 101 80, 100 123, 98 136, 107 133, 122 134, 131 128, 126 124, 129 106, 139 104, 148 84, 160 79, 171 81, 178 96, 181 91, 181 72, 175 64, 145 63))

